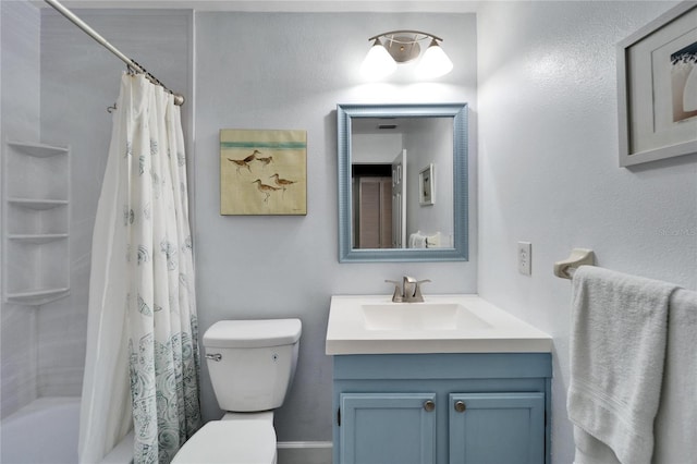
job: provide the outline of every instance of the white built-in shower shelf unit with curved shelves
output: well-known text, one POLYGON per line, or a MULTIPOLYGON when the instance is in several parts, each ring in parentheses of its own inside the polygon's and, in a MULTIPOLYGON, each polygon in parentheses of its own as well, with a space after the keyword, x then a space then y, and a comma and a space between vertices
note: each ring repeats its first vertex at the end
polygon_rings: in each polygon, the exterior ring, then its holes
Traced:
POLYGON ((70 293, 70 148, 4 149, 3 297, 42 305, 70 293))

